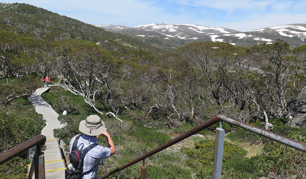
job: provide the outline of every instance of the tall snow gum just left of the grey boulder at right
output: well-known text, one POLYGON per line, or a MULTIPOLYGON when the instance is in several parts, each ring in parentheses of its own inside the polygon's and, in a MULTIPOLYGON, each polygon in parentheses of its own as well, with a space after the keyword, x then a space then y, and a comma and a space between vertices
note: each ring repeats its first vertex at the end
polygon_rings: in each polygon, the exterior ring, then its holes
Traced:
MULTIPOLYGON (((260 95, 254 102, 262 110, 266 119, 266 110, 271 111, 274 117, 286 117, 287 103, 294 93, 294 81, 297 74, 297 60, 290 55, 289 44, 277 40, 273 44, 254 45, 248 49, 256 65, 257 90, 260 95)), ((266 126, 267 128, 267 126, 266 126)))

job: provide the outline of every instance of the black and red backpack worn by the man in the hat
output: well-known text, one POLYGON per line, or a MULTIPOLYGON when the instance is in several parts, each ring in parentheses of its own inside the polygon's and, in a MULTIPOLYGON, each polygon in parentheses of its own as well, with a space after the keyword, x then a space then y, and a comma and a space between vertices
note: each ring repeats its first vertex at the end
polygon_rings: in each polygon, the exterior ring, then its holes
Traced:
MULTIPOLYGON (((78 149, 77 141, 79 140, 81 134, 76 136, 76 139, 73 142, 71 153, 69 154, 70 162, 68 164, 68 167, 65 169, 65 179, 81 179, 84 174, 87 174, 88 172, 83 173, 83 162, 85 155, 95 146, 99 144, 91 144, 86 149, 83 150, 84 144, 81 147, 81 149, 78 149), (73 168, 72 168, 73 167, 73 168)), ((80 146, 79 145, 79 146, 80 146)))

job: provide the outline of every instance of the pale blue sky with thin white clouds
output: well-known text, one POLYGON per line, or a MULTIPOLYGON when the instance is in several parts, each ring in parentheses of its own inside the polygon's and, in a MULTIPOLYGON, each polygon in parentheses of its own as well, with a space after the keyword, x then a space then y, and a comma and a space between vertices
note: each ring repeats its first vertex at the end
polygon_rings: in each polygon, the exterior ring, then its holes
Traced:
MULTIPOLYGON (((4 3, 13 3, 5 2, 4 3)), ((20 0, 93 25, 196 24, 241 32, 306 23, 306 0, 20 0)))

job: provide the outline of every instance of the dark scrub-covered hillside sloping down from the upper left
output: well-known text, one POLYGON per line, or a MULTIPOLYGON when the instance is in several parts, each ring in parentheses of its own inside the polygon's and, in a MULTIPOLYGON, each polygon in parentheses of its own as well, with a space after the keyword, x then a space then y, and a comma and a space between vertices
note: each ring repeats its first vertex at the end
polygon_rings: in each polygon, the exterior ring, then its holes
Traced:
POLYGON ((13 27, 17 34, 35 39, 92 41, 108 50, 119 52, 133 49, 165 52, 165 49, 156 48, 139 39, 108 32, 79 20, 24 3, 0 3, 0 23, 13 27))

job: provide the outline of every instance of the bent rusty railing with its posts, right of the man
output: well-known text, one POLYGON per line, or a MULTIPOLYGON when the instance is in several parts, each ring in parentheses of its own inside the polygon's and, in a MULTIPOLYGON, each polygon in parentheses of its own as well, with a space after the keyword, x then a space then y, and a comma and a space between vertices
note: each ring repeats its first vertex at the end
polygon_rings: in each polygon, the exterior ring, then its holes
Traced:
POLYGON ((306 145, 301 143, 301 142, 286 138, 284 136, 275 134, 275 133, 270 132, 270 131, 266 131, 264 129, 253 126, 251 124, 244 123, 242 121, 233 119, 231 117, 228 117, 228 116, 225 116, 225 115, 222 115, 222 114, 218 114, 217 116, 214 116, 213 118, 205 121, 204 123, 202 123, 202 124, 194 127, 193 129, 185 132, 184 134, 181 134, 181 135, 177 136, 176 138, 174 138, 174 139, 166 142, 165 144, 151 150, 150 152, 147 152, 146 154, 130 161, 129 163, 126 163, 125 165, 120 166, 120 167, 116 168, 115 170, 103 175, 99 179, 109 177, 112 174, 115 174, 115 173, 117 173, 117 172, 137 163, 137 162, 140 162, 141 160, 143 160, 143 166, 141 167, 141 179, 145 179, 146 178, 146 176, 145 176, 145 174, 146 174, 145 168, 146 167, 144 166, 144 159, 146 159, 147 157, 150 157, 150 156, 170 147, 171 145, 176 144, 179 141, 182 141, 182 140, 192 136, 193 134, 196 134, 196 133, 202 131, 203 129, 206 129, 207 127, 210 127, 210 126, 216 124, 217 122, 220 122, 220 126, 216 130, 218 135, 216 135, 216 140, 215 140, 216 143, 215 143, 215 155, 214 155, 214 166, 213 166, 213 177, 212 178, 213 179, 220 179, 221 169, 222 169, 222 156, 223 156, 222 139, 223 139, 223 142, 224 142, 224 130, 222 129, 222 122, 223 121, 227 122, 229 124, 233 124, 235 126, 241 127, 243 129, 248 130, 250 132, 253 132, 255 134, 259 134, 259 135, 261 135, 263 137, 266 137, 266 138, 269 138, 271 140, 277 141, 277 142, 282 143, 284 145, 287 145, 289 147, 293 147, 294 149, 300 150, 302 152, 306 152, 306 145), (217 138, 218 138, 218 140, 217 140, 217 138), (221 143, 221 145, 220 145, 220 143, 221 143), (218 151, 219 151, 219 153, 218 153, 218 151), (222 154, 220 154, 221 153, 220 151, 222 151, 222 154))

